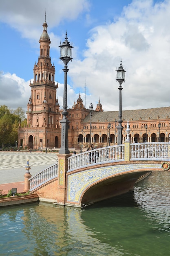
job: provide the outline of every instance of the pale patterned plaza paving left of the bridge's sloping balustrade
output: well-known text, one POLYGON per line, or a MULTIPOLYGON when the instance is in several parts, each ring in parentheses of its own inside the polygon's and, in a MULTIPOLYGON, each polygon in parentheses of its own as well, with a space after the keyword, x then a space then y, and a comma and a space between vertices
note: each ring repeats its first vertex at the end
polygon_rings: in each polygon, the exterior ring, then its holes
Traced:
POLYGON ((57 161, 56 153, 0 151, 0 190, 7 194, 12 188, 24 191, 25 166, 29 160, 31 175, 35 175, 57 161))

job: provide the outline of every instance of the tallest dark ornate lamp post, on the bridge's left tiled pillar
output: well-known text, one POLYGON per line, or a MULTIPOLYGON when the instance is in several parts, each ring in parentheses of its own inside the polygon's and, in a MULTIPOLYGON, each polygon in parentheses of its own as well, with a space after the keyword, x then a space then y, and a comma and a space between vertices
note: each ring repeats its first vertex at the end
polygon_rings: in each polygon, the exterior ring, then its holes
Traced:
POLYGON ((63 92, 63 112, 62 112, 62 120, 60 121, 62 125, 62 132, 61 132, 61 148, 59 150, 59 154, 69 154, 70 151, 68 150, 68 124, 70 121, 67 119, 67 64, 69 61, 72 60, 72 48, 73 46, 70 45, 67 38, 67 32, 65 41, 62 43, 60 42, 60 60, 64 62, 64 92, 63 92))

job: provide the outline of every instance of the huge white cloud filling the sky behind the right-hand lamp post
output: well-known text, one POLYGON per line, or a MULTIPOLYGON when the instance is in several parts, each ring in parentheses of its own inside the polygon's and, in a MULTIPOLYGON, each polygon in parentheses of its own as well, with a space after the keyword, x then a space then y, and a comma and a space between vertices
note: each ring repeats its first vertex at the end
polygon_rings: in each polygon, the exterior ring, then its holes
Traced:
POLYGON ((119 84, 115 70, 122 58, 127 71, 122 84, 123 109, 170 106, 169 13, 170 1, 153 6, 152 1, 135 0, 115 23, 95 27, 84 60, 74 60, 70 69, 75 87, 83 86, 86 78, 93 102, 100 97, 105 111, 110 107, 117 110, 119 84))

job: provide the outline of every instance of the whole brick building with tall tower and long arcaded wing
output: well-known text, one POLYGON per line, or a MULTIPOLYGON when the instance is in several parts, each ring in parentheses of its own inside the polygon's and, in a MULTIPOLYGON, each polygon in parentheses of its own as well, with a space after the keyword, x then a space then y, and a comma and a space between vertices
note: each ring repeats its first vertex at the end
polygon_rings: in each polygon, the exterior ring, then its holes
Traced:
MULTIPOLYGON (((31 97, 27 104, 27 126, 18 129, 18 147, 34 149, 60 148, 62 110, 56 97, 55 67, 51 64, 50 38, 47 33, 46 20, 40 36, 40 56, 33 67, 33 83, 30 82, 31 97)), ((73 107, 68 109, 68 148, 85 150, 90 141, 95 146, 117 144, 118 111, 102 110, 99 102, 90 115, 90 110, 84 108, 81 95, 73 107), (108 124, 111 124, 110 129, 108 124)), ((122 126, 124 142, 126 139, 127 121, 130 124, 130 139, 132 142, 168 142, 170 134, 170 107, 122 111, 122 126), (147 129, 146 129, 147 124, 147 129), (160 124, 158 126, 158 124, 160 124)))

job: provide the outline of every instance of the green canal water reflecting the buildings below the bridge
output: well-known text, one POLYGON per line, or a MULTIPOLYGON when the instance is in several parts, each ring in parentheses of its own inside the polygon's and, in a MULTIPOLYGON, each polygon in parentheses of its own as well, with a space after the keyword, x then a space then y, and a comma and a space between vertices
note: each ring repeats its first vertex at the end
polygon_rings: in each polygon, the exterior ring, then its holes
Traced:
POLYGON ((0 209, 1 256, 169 256, 170 171, 85 209, 35 203, 0 209))

